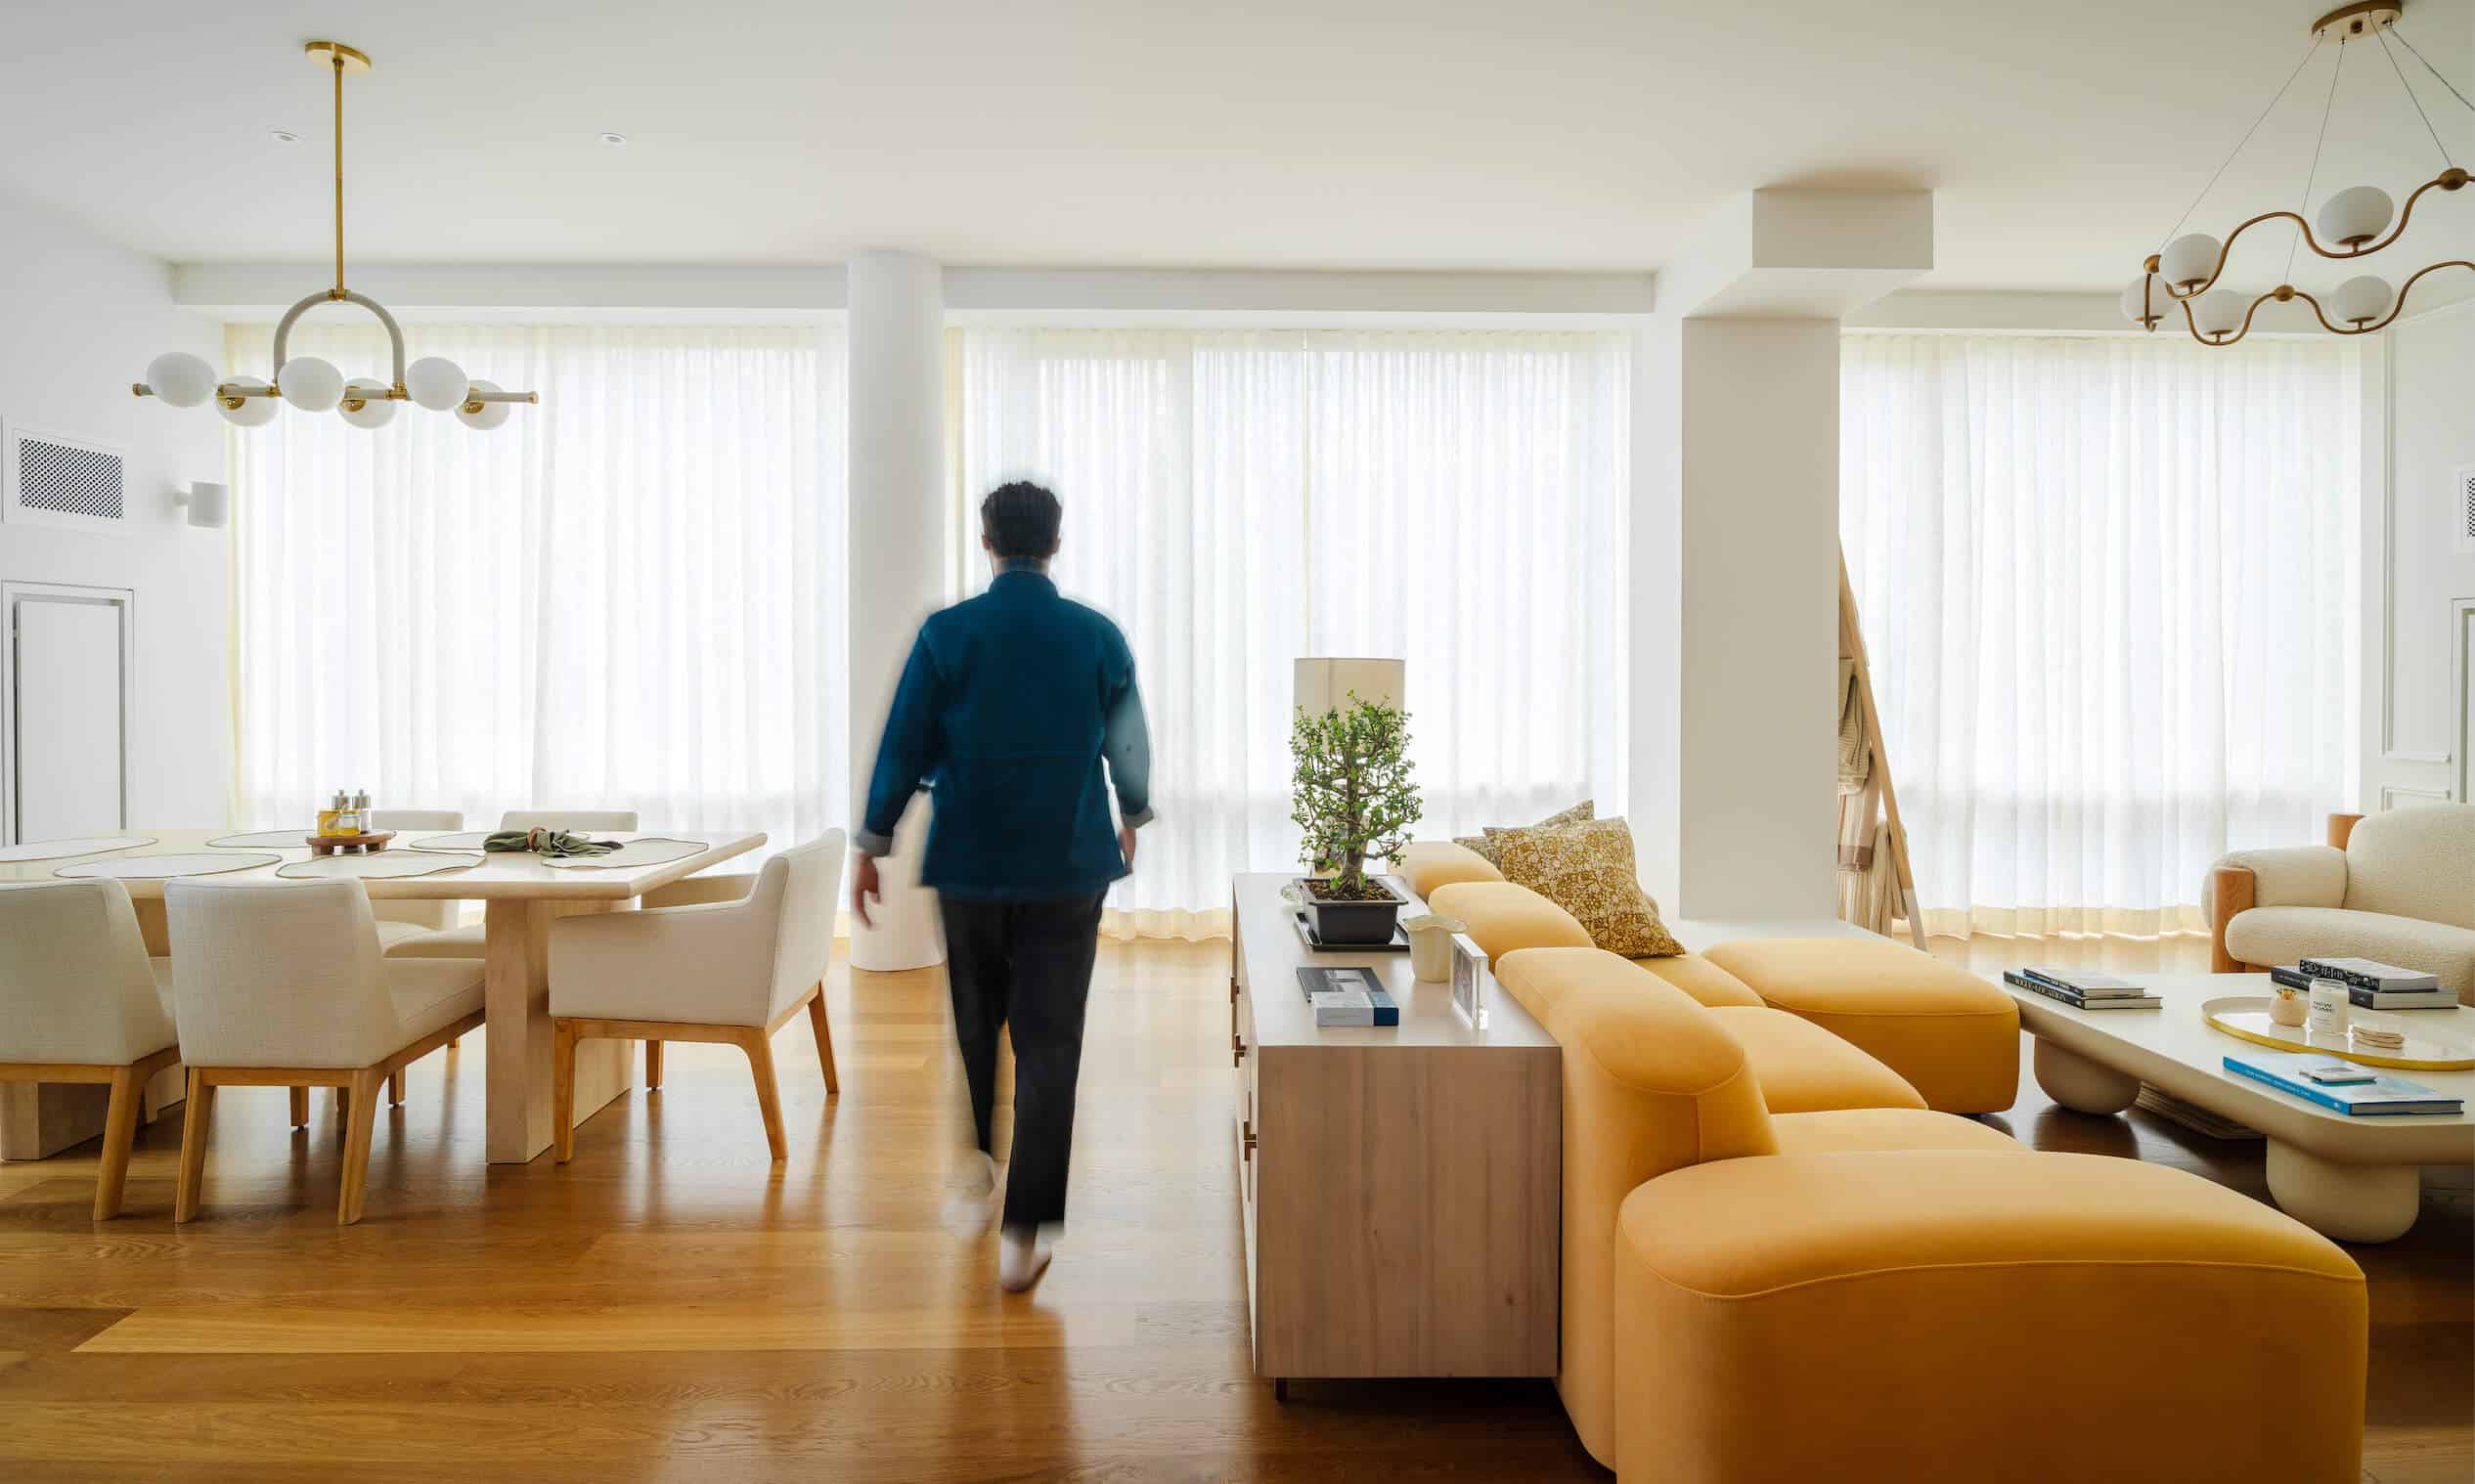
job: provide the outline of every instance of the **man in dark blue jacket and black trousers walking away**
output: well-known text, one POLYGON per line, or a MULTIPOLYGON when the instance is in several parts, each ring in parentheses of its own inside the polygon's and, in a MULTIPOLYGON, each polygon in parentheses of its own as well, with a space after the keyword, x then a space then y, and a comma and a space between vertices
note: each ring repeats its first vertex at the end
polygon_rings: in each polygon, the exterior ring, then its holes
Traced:
POLYGON ((1134 831, 1151 824, 1151 737, 1134 653, 1116 623, 1057 596, 1047 576, 1057 524, 1057 497, 1040 485, 1002 485, 980 502, 980 547, 995 576, 978 599, 933 613, 911 646, 876 744, 851 873, 851 913, 869 923, 876 861, 893 853, 911 794, 931 787, 921 885, 936 888, 945 918, 953 1031, 980 1135, 970 1172, 980 1209, 997 1177, 997 1029, 1015 1039, 1015 1150, 997 1252, 997 1281, 1015 1294, 1047 1269, 1067 1214, 1099 910, 1109 883, 1134 871, 1134 831))

